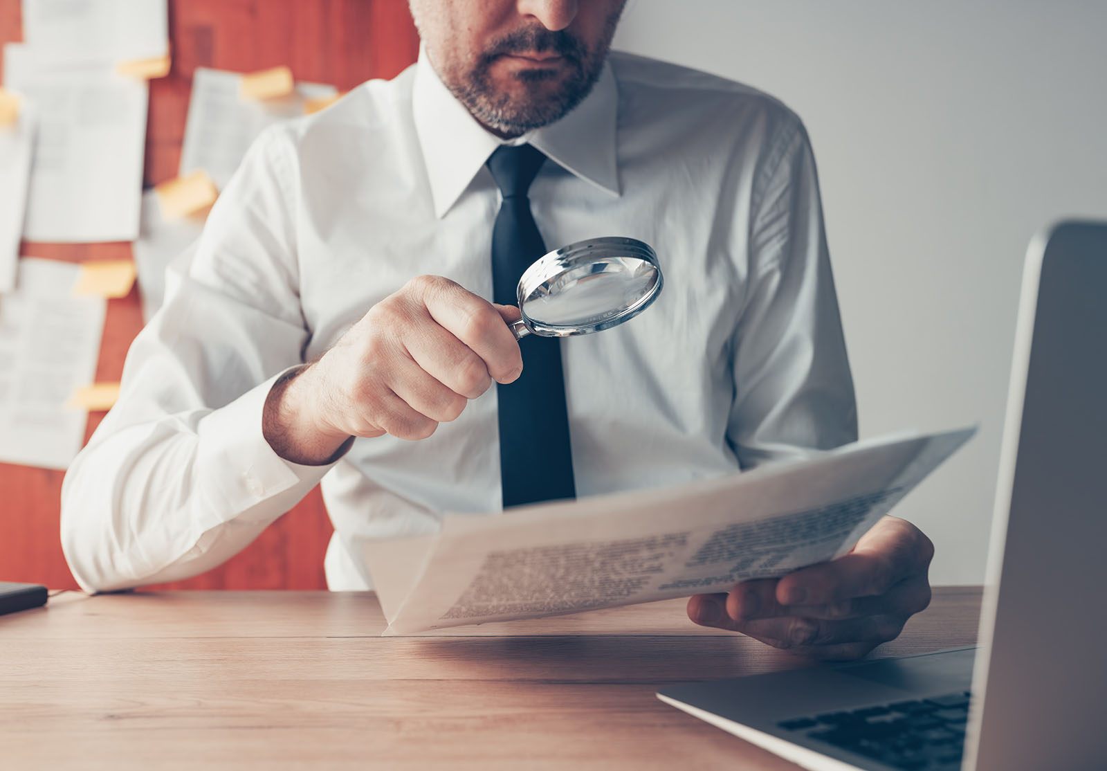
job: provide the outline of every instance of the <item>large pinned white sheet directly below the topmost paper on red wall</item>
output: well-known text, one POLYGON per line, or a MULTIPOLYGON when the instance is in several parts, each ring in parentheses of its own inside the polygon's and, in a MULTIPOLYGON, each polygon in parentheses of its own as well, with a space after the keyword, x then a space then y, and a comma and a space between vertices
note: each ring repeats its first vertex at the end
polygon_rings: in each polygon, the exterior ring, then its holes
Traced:
POLYGON ((23 237, 114 241, 138 236, 146 150, 146 83, 108 65, 44 68, 4 45, 4 84, 39 117, 23 237))

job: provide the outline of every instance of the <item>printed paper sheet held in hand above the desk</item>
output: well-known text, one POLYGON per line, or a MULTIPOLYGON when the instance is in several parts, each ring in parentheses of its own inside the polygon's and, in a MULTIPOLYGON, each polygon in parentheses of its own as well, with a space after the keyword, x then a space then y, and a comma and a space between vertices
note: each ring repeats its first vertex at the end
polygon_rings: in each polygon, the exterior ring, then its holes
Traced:
POLYGON ((363 556, 386 635, 726 592, 848 552, 973 433, 897 435, 706 481, 445 515, 363 556))

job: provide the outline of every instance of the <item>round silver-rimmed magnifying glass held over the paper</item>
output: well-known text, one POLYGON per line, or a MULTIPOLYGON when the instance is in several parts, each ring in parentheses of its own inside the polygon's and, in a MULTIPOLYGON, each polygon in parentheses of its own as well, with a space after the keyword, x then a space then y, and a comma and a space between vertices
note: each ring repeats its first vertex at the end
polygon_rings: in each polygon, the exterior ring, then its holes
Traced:
POLYGON ((662 284, 648 244, 620 236, 577 241, 540 257, 519 278, 523 317, 511 332, 519 339, 610 329, 649 308, 662 284))

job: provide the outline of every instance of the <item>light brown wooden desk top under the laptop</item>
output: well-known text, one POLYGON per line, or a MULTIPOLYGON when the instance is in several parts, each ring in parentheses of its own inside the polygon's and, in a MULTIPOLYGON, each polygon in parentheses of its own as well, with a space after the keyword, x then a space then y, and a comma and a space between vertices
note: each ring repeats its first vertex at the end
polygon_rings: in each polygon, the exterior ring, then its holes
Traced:
MULTIPOLYGON (((971 645, 935 592, 873 656, 971 645)), ((380 637, 370 594, 64 593, 0 616, 0 765, 27 769, 795 769, 654 697, 806 662, 683 600, 380 637)))

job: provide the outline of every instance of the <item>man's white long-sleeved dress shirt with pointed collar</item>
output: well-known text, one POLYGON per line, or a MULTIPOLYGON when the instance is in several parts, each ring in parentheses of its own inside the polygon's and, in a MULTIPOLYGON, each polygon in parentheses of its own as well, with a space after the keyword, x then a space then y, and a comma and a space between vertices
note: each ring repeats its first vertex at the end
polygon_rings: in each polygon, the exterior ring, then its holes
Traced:
MULTIPOLYGON (((561 341, 580 496, 685 482, 856 439, 852 382, 799 120, 744 85, 612 53, 591 94, 526 141, 547 248, 652 245, 658 301, 561 341)), ((329 466, 261 433, 276 377, 421 274, 492 296, 500 140, 425 58, 269 130, 167 274, 120 401, 70 469, 62 543, 108 590, 224 562, 315 484, 332 589, 372 586, 368 538, 498 512, 496 389, 430 439, 358 439, 329 466)), ((535 441, 540 442, 541 436, 535 441)))

